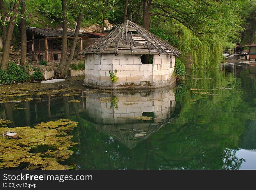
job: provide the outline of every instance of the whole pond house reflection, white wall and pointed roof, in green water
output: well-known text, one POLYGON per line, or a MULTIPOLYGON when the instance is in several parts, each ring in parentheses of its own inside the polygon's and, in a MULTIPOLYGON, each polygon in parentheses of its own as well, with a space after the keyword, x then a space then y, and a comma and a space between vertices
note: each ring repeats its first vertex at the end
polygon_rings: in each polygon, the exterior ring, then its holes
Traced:
POLYGON ((172 122, 174 109, 175 95, 170 88, 132 94, 86 93, 88 119, 98 131, 130 149, 172 122))

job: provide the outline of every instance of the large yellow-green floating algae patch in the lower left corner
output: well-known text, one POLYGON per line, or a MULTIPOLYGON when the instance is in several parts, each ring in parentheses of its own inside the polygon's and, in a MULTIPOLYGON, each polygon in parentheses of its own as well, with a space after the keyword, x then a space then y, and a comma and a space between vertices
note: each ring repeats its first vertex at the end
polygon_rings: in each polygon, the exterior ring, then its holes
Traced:
MULTIPOLYGON (((76 143, 72 142, 71 131, 78 123, 71 120, 57 120, 40 123, 34 128, 15 127, 19 132, 18 139, 0 137, 0 169, 19 168, 26 164, 26 169, 70 169, 70 166, 59 162, 66 160, 73 151, 68 150, 76 143), (48 146, 47 151, 33 153, 36 147, 48 146)), ((0 133, 7 127, 1 127, 0 133)), ((24 168, 20 168, 24 169, 24 168)))

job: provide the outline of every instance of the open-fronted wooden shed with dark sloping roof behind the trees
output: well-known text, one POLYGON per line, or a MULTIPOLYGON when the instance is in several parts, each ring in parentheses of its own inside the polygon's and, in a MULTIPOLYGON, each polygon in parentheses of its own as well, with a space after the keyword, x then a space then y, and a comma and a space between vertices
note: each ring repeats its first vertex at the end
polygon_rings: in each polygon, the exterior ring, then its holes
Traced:
MULTIPOLYGON (((62 30, 51 28, 26 27, 27 55, 32 55, 33 61, 59 61, 61 59, 62 30)), ((74 38, 73 32, 67 32, 68 48, 74 38)), ((82 37, 79 35, 74 59, 82 60, 78 55, 83 48, 82 37)))

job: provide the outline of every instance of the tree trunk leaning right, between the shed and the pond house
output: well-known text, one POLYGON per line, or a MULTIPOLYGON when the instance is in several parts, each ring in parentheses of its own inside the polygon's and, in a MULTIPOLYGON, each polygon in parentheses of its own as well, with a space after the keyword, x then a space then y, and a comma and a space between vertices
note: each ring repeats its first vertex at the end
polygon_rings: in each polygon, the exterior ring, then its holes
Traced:
POLYGON ((74 34, 74 38, 73 38, 73 44, 72 44, 72 47, 70 49, 70 54, 68 56, 67 63, 65 65, 64 71, 63 71, 63 73, 61 73, 61 77, 63 77, 62 74, 64 75, 67 72, 67 70, 68 70, 68 68, 71 64, 71 61, 74 57, 74 52, 75 52, 75 49, 76 49, 76 46, 77 46, 77 38, 78 38, 78 34, 79 34, 79 30, 80 30, 80 26, 81 26, 81 22, 82 22, 82 18, 83 18, 83 11, 84 11, 84 8, 79 13, 78 20, 77 20, 77 26, 76 26, 76 30, 75 30, 75 34, 74 34))

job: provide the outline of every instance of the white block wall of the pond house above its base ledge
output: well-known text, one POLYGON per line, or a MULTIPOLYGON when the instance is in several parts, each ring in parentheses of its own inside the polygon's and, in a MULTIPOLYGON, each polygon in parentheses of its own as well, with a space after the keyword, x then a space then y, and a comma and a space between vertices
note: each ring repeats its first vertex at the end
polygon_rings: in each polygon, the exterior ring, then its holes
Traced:
POLYGON ((171 78, 175 56, 153 55, 153 64, 142 64, 141 55, 88 54, 85 77, 110 82, 109 71, 117 70, 118 82, 161 81, 171 78))

